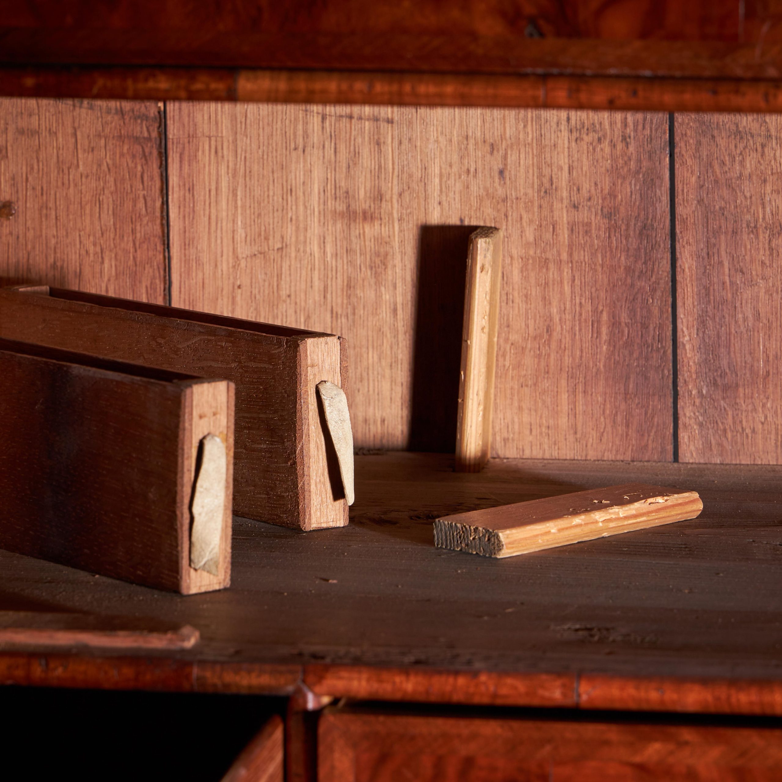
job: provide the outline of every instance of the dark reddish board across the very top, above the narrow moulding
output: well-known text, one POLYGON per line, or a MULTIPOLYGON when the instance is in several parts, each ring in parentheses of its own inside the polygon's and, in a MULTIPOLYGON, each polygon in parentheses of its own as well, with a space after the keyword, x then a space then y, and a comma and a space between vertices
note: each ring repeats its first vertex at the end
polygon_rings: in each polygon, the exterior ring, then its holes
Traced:
MULTIPOLYGON (((6 5, 10 5, 6 3, 6 5)), ((5 63, 246 66, 463 73, 780 75, 773 2, 359 0, 4 8, 5 63)))

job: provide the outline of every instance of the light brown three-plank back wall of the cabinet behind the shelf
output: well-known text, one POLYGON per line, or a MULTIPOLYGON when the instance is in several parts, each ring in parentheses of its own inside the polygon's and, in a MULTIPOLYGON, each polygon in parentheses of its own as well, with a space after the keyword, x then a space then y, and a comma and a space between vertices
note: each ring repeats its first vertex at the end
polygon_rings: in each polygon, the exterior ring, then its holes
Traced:
POLYGON ((2 278, 159 302, 169 279, 177 307, 343 335, 357 447, 453 452, 467 235, 490 224, 494 457, 780 461, 778 117, 2 109, 2 278))

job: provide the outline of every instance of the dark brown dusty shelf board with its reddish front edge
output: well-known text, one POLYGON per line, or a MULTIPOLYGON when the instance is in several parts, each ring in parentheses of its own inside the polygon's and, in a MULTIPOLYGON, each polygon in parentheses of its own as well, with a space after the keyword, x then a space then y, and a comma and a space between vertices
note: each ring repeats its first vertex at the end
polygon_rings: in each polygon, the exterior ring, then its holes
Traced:
MULTIPOLYGON (((477 701, 515 705, 587 705, 592 677, 626 680, 622 697, 637 708, 655 705, 648 692, 633 696, 633 681, 719 680, 766 693, 748 711, 782 713, 780 486, 777 466, 494 460, 468 475, 443 454, 362 455, 349 527, 303 534, 235 519, 223 592, 181 597, 0 552, 0 610, 149 618, 201 636, 192 650, 143 657, 7 651, 0 672, 20 683, 270 692, 303 676, 322 694, 382 697, 382 671, 393 669, 395 699, 453 700, 461 676, 482 688, 477 701), (504 560, 432 545, 438 515, 634 481, 698 490, 704 511, 504 560)), ((622 699, 612 698, 594 708, 622 699)))

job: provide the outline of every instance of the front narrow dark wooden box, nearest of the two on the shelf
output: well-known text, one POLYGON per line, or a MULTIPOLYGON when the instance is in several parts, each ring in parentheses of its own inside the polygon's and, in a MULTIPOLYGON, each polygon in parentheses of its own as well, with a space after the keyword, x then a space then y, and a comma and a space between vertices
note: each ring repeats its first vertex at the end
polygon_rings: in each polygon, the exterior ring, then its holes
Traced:
POLYGON ((233 384, 0 339, 0 548, 183 594, 231 578, 231 473, 215 573, 190 566, 199 425, 225 444, 233 384), (203 388, 205 386, 206 388, 203 388))

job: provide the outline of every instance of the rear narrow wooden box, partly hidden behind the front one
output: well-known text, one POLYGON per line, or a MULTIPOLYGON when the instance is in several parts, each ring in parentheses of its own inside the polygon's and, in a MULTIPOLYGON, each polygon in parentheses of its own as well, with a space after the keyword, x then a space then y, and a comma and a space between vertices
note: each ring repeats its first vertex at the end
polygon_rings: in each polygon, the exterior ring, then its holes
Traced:
POLYGON ((0 290, 0 337, 234 382, 235 514, 347 524, 316 396, 346 385, 340 337, 45 285, 0 290))

